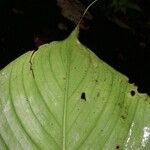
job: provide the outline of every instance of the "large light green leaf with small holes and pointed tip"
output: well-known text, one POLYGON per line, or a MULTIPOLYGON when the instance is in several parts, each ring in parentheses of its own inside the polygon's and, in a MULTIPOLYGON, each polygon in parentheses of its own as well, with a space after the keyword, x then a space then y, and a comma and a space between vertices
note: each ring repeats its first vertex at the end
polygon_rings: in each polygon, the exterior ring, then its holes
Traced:
POLYGON ((150 98, 77 35, 1 70, 1 150, 150 149, 150 98))

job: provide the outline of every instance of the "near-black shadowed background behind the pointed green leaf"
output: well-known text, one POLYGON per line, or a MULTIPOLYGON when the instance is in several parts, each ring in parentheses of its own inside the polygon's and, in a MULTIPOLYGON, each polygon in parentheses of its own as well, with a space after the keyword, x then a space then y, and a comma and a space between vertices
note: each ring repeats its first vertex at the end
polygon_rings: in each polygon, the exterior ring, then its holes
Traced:
MULTIPOLYGON (((81 1, 85 7, 91 2, 81 1)), ((90 8, 93 19, 88 29, 81 29, 80 41, 150 95, 150 2, 136 2, 142 11, 123 12, 110 0, 98 1, 90 8), (131 28, 116 23, 114 16, 131 28)), ((0 69, 41 44, 64 39, 75 26, 55 0, 1 0, 0 69)))

